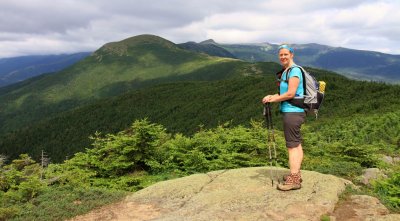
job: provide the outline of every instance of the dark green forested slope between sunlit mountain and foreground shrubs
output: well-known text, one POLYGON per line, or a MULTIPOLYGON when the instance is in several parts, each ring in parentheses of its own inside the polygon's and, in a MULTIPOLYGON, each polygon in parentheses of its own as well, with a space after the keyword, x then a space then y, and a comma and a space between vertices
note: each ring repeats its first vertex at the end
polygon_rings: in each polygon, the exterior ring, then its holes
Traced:
MULTIPOLYGON (((129 127, 135 119, 148 118, 165 125, 170 132, 183 134, 230 121, 233 125, 248 125, 251 119, 263 120, 261 98, 276 93, 271 72, 277 68, 274 63, 249 64, 247 70, 259 72, 249 71, 247 76, 211 82, 162 84, 103 99, 9 133, 2 137, 0 148, 12 156, 24 152, 39 156, 44 149, 58 161, 90 148, 88 137, 96 131, 117 132, 129 127)), ((310 116, 308 120, 315 127, 332 125, 341 119, 390 113, 400 106, 396 96, 400 93, 399 86, 354 81, 323 70, 309 70, 328 83, 319 119, 310 116)), ((278 108, 274 105, 274 120, 280 128, 278 108)))

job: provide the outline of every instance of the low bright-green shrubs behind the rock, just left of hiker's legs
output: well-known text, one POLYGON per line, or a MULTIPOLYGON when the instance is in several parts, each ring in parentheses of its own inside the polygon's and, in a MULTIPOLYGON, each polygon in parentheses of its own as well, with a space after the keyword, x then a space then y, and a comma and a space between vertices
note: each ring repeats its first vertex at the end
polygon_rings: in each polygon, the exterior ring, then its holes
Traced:
MULTIPOLYGON (((177 134, 164 144, 166 169, 186 173, 263 166, 266 163, 267 133, 260 122, 251 128, 230 127, 228 123, 215 129, 201 130, 188 138, 177 134)), ((278 161, 285 165, 287 151, 283 139, 277 137, 278 161)), ((271 147, 272 148, 272 147, 271 147)))

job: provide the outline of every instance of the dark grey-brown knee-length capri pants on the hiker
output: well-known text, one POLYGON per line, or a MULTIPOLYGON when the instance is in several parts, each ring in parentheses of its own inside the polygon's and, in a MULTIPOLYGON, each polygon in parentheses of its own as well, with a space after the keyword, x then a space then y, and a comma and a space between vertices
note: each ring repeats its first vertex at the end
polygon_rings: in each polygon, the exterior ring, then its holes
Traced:
POLYGON ((306 113, 283 113, 283 132, 285 134, 286 147, 297 147, 302 142, 300 128, 305 122, 306 113))

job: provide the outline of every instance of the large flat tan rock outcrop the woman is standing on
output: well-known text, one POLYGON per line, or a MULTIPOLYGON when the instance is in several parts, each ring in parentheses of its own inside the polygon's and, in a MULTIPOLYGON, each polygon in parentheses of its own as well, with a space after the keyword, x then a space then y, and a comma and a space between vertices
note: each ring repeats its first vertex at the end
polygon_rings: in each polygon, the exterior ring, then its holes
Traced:
MULTIPOLYGON (((333 214, 331 218, 335 219, 338 196, 350 181, 302 171, 303 187, 281 192, 276 189, 277 178, 287 173, 281 168, 255 167, 195 174, 157 183, 73 220, 319 221, 326 214, 333 214)), ((384 215, 387 211, 377 213, 384 215)))

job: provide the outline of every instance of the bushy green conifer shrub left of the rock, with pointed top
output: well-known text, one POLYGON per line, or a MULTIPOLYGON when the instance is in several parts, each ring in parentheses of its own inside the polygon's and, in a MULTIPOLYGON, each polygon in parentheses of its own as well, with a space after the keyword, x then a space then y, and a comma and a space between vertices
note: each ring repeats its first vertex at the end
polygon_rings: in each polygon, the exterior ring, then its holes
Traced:
POLYGON ((132 126, 116 135, 92 138, 93 149, 87 150, 89 162, 98 176, 117 177, 135 170, 159 171, 158 147, 168 139, 165 128, 146 119, 135 121, 132 126))

